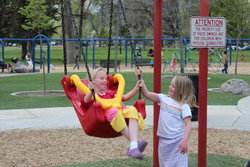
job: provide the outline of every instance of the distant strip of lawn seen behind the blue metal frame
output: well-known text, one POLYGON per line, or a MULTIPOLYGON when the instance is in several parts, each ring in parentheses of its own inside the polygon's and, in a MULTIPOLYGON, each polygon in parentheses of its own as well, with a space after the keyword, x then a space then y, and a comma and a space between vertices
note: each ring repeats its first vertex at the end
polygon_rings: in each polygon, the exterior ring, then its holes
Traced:
MULTIPOLYGON (((150 47, 146 48, 145 50, 142 50, 142 57, 147 57, 147 52, 150 47)), ((151 47, 152 48, 152 47, 151 47)), ((39 47, 36 47, 36 59, 38 59, 39 55, 39 47)), ((47 52, 47 48, 43 48, 44 51, 47 52)), ((215 54, 209 54, 209 62, 219 62, 220 61, 220 52, 223 51, 223 49, 215 49, 215 54)), ((86 54, 86 50, 84 48, 84 52, 86 54)), ((128 62, 131 62, 131 56, 130 56, 131 50, 128 50, 128 62)), ((162 61, 169 61, 173 54, 176 55, 177 60, 180 60, 180 49, 178 48, 162 48, 162 61)), ((246 61, 250 62, 250 50, 239 50, 239 55, 244 54, 246 57, 246 61)), ((198 50, 188 50, 186 52, 186 62, 198 62, 198 50)), ((229 52, 228 52, 228 55, 229 52)), ((236 51, 232 51, 232 62, 235 61, 235 55, 236 51)), ((6 62, 11 63, 10 59, 12 57, 21 57, 21 47, 5 47, 5 60, 6 62)), ((107 59, 108 57, 108 48, 107 47, 95 47, 95 61, 99 62, 100 59, 107 59)), ((114 47, 111 48, 111 59, 115 58, 115 49, 114 47)), ((125 62, 125 48, 121 48, 118 50, 118 59, 122 61, 122 63, 125 62)), ((153 58, 151 58, 153 60, 153 58)), ((51 63, 52 64, 62 64, 63 60, 63 47, 62 46, 53 46, 51 47, 51 63)), ((88 48, 88 61, 92 61, 92 48, 88 48)), ((240 61, 240 60, 239 60, 240 61)))

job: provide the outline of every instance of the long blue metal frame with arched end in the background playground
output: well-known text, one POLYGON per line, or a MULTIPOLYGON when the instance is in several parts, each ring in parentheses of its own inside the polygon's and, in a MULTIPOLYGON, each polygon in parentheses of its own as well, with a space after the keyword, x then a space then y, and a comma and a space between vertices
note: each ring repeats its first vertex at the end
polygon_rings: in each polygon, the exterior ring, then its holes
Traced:
MULTIPOLYGON (((32 61, 34 63, 35 59, 36 59, 36 51, 39 51, 39 60, 40 60, 40 68, 42 66, 42 59, 43 59, 43 48, 42 45, 46 45, 46 49, 47 49, 47 65, 48 65, 48 73, 50 72, 50 59, 51 59, 51 46, 56 46, 62 45, 63 40, 62 39, 49 39, 46 36, 40 34, 37 35, 35 38, 33 39, 17 39, 17 38, 4 38, 4 39, 0 39, 0 44, 1 44, 1 55, 2 55, 2 59, 5 59, 5 47, 9 47, 14 44, 19 44, 21 42, 32 42, 32 61), (40 44, 40 49, 36 49, 36 46, 39 44, 37 41, 42 41, 42 45, 40 44)), ((66 41, 79 41, 79 39, 66 39, 66 41)), ((95 64, 97 63, 97 61, 100 59, 100 55, 98 54, 103 54, 105 53, 105 47, 107 46, 108 43, 108 39, 80 39, 80 41, 83 43, 83 46, 85 47, 85 55, 86 55, 86 59, 88 59, 88 57, 91 56, 91 65, 92 68, 95 68, 95 64), (98 47, 98 49, 96 49, 98 47), (103 50, 102 50, 103 49, 103 50), (96 53, 96 51, 98 51, 98 53, 96 53)), ((131 49, 131 45, 130 42, 133 42, 133 48, 135 49, 134 52, 137 52, 138 50, 143 50, 143 54, 147 55, 147 50, 149 49, 153 49, 153 38, 132 38, 132 39, 128 39, 128 38, 119 38, 119 39, 112 39, 112 46, 114 46, 115 48, 115 53, 113 54, 113 59, 122 59, 122 62, 124 62, 125 66, 128 66, 129 63, 131 63, 131 66, 133 66, 133 62, 134 59, 136 57, 134 57, 133 54, 133 49, 131 49), (124 51, 124 53, 122 53, 124 51), (120 52, 120 55, 122 55, 122 57, 117 57, 117 52, 120 52)), ((249 43, 250 39, 241 39, 241 42, 247 42, 249 43)), ((175 54, 177 56, 180 56, 178 54, 179 52, 179 45, 178 45, 179 39, 177 38, 163 38, 162 39, 162 50, 163 50, 163 61, 165 63, 170 62, 170 58, 171 55, 166 56, 165 52, 166 50, 168 50, 169 48, 176 48, 175 54)), ((230 58, 230 63, 232 63, 232 51, 234 49, 234 44, 236 42, 236 39, 227 39, 227 45, 224 49, 229 50, 229 58, 230 58)), ((189 46, 189 39, 185 38, 183 39, 183 49, 184 49, 184 61, 185 61, 185 65, 186 64, 190 64, 192 65, 192 67, 194 68, 197 64, 198 64, 198 57, 196 55, 196 53, 194 53, 193 49, 189 46)), ((217 54, 218 55, 218 54, 217 54)), ((105 55, 102 55, 105 56, 105 55)), ((63 58, 63 56, 62 56, 63 58)), ((105 57, 104 57, 105 58, 105 57)), ((103 59, 103 58, 102 58, 103 59)), ((215 57, 213 58, 213 60, 216 60, 216 62, 219 61, 219 57, 215 57)), ((35 66, 33 67, 33 71, 35 71, 35 66)))

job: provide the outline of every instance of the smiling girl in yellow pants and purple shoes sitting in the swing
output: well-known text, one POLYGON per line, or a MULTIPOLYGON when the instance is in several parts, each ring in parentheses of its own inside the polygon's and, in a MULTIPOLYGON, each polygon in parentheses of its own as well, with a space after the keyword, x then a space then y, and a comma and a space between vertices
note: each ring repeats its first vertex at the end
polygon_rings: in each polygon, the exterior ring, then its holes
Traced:
MULTIPOLYGON (((139 71, 136 71, 136 75, 139 74, 139 71)), ((93 73, 93 81, 88 83, 90 90, 94 90, 99 97, 104 99, 114 98, 116 95, 116 90, 109 90, 107 88, 107 74, 102 68, 98 68, 93 73)), ((139 90, 138 81, 135 87, 123 95, 122 100, 127 101, 131 99, 139 90)), ((88 93, 84 97, 85 103, 92 103, 92 92, 88 93)), ((110 125, 116 132, 120 132, 130 141, 130 148, 127 151, 126 155, 132 158, 143 159, 144 155, 142 152, 145 150, 148 142, 146 140, 138 140, 138 129, 142 130, 144 128, 144 121, 141 114, 138 113, 135 107, 126 107, 122 104, 122 110, 117 108, 109 108, 104 110, 104 115, 110 125), (125 118, 129 119, 128 126, 126 124, 125 118)))

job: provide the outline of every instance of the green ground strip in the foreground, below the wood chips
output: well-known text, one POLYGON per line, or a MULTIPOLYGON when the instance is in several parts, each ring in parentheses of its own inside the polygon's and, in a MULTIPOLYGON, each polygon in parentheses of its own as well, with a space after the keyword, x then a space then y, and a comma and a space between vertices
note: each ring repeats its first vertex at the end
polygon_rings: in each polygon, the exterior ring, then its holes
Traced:
MULTIPOLYGON (((247 159, 220 154, 207 155, 207 167, 243 167, 247 159)), ((68 164, 57 167, 151 167, 152 157, 146 157, 143 161, 132 158, 115 159, 108 161, 86 162, 79 164, 68 164)), ((188 158, 189 167, 197 167, 197 154, 190 154, 188 158)))

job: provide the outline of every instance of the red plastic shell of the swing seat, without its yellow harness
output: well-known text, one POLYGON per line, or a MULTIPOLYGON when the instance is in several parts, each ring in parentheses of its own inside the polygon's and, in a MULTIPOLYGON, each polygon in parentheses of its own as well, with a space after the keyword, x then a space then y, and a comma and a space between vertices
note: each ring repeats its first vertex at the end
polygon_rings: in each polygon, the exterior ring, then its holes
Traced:
MULTIPOLYGON (((114 85, 112 76, 109 75, 109 89, 117 89, 114 85)), ((87 79, 81 79, 82 83, 88 85, 87 79)), ((110 123, 106 120, 100 102, 93 102, 90 106, 84 103, 84 93, 79 90, 74 84, 70 83, 70 77, 65 75, 61 80, 62 87, 68 99, 72 102, 77 117, 81 123, 82 129, 89 136, 101 138, 113 138, 121 136, 113 130, 110 123)), ((145 101, 139 99, 134 104, 134 107, 142 114, 143 119, 146 118, 145 101)))

